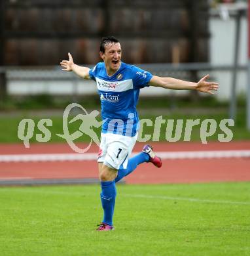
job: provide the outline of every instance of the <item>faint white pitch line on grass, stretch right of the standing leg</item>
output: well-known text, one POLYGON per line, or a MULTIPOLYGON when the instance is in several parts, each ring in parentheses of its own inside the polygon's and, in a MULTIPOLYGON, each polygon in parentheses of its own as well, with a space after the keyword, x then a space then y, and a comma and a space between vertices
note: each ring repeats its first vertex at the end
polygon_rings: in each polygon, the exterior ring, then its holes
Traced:
POLYGON ((140 195, 140 194, 121 194, 121 196, 127 196, 130 198, 179 200, 179 201, 200 202, 200 203, 227 203, 227 204, 250 205, 250 202, 236 202, 236 201, 228 201, 228 200, 208 200, 208 199, 200 199, 200 198, 179 198, 179 197, 172 197, 172 196, 147 196, 147 195, 140 195))

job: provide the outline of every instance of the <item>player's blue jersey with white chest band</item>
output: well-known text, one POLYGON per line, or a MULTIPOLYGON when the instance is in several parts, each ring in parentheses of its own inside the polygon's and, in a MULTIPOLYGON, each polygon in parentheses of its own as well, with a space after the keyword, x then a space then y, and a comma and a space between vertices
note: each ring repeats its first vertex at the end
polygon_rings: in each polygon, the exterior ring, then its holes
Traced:
POLYGON ((136 105, 139 90, 149 86, 152 74, 121 62, 115 74, 107 75, 104 62, 89 72, 96 81, 101 100, 102 133, 133 137, 139 129, 136 105))

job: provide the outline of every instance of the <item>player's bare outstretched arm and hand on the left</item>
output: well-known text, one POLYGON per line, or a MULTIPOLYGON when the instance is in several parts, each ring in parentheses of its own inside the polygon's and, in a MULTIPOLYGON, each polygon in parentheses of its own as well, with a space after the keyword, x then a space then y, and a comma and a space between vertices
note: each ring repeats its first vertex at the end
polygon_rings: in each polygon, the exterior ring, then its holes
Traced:
POLYGON ((62 62, 60 62, 61 66, 62 66, 62 70, 63 71, 73 71, 75 72, 75 74, 79 75, 80 77, 84 78, 84 79, 90 79, 90 75, 89 75, 89 71, 90 68, 86 68, 86 67, 81 67, 77 64, 75 64, 73 62, 73 58, 71 56, 70 53, 68 53, 69 55, 69 60, 62 60, 62 62))

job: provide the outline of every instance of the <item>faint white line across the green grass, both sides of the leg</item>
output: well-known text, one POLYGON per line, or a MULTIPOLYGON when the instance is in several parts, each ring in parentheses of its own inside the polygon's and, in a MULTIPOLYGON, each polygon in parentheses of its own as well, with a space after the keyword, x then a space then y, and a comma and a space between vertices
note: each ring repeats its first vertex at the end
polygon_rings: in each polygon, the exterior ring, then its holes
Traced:
MULTIPOLYGON (((0 188, 0 192, 26 192, 26 193, 38 193, 38 194, 52 194, 52 195, 65 195, 65 196, 99 196, 99 194, 84 193, 84 192, 65 192, 65 191, 48 191, 48 190, 31 190, 29 188, 0 188)), ((143 195, 143 194, 122 194, 120 196, 125 196, 128 198, 147 198, 147 199, 160 199, 160 200, 173 200, 173 201, 188 201, 197 203, 224 203, 231 205, 250 205, 250 202, 238 202, 229 200, 209 200, 201 198, 183 198, 183 197, 173 197, 173 196, 158 196, 158 195, 143 195)))

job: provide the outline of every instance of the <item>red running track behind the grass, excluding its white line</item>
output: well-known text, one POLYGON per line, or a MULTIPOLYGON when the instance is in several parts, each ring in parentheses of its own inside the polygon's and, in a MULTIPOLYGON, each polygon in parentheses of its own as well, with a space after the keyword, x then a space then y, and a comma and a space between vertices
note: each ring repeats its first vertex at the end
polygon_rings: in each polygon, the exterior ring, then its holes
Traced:
MULTIPOLYGON (((84 148, 86 144, 78 144, 84 148)), ((250 150, 250 140, 240 142, 153 142, 155 151, 250 150)), ((134 152, 141 151, 137 143, 134 152)), ((88 152, 98 152, 92 146, 88 152)), ((67 144, 0 144, 0 154, 73 153, 67 144)), ((0 180, 98 178, 96 161, 0 162, 0 180)), ((250 181, 250 158, 164 160, 162 168, 143 163, 125 179, 130 184, 250 181)))

